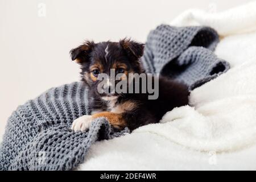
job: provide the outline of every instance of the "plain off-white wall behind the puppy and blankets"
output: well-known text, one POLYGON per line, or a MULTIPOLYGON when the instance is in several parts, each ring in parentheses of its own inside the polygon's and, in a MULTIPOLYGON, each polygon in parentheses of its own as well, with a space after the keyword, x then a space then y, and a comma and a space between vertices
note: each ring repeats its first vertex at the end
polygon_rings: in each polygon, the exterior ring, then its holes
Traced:
POLYGON ((117 41, 127 36, 144 42, 152 28, 184 10, 222 11, 246 2, 0 0, 0 137, 18 105, 53 86, 80 80, 69 50, 85 39, 117 41), (46 5, 46 16, 40 3, 46 5))

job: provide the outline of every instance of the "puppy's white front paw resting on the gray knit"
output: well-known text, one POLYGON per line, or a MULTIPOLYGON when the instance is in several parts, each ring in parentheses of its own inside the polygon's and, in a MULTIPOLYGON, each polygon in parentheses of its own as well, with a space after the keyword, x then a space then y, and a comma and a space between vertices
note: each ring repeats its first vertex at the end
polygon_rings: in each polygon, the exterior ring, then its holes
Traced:
POLYGON ((93 121, 92 115, 83 115, 73 121, 71 129, 74 131, 86 131, 93 121))

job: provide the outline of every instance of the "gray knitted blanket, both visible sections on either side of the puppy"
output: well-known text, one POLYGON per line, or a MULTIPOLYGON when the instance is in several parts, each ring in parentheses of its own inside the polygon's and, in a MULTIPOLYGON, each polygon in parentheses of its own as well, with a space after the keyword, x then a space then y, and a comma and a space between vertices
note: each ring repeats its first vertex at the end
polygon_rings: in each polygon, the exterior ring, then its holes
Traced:
MULTIPOLYGON (((212 53, 217 42, 218 35, 208 27, 162 25, 148 35, 142 61, 147 72, 161 72, 195 88, 229 68, 212 53)), ((0 169, 75 169, 96 140, 130 132, 114 131, 104 118, 96 119, 88 132, 72 131, 72 122, 90 113, 87 93, 82 82, 74 82, 19 106, 7 122, 0 169)))

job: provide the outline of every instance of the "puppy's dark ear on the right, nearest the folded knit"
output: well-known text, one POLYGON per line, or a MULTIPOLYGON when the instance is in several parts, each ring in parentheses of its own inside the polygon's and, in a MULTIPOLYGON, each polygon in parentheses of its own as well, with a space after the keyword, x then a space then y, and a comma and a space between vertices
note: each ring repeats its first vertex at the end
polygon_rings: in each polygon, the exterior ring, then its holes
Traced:
POLYGON ((125 38, 120 40, 119 44, 133 60, 138 60, 143 55, 144 44, 142 43, 125 38))

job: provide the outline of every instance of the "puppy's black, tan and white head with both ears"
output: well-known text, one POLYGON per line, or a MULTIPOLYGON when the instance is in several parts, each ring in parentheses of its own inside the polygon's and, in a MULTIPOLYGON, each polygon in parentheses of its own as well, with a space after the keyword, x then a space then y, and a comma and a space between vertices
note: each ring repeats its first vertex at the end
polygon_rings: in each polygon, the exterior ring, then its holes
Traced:
POLYGON ((121 75, 120 80, 127 79, 129 73, 142 73, 140 57, 143 55, 144 44, 130 39, 122 39, 119 42, 85 42, 81 46, 71 50, 72 60, 81 65, 82 81, 90 86, 90 89, 104 100, 112 100, 120 94, 117 92, 99 93, 99 79, 102 75, 105 84, 102 89, 107 89, 118 84, 118 80, 111 80, 114 76, 121 75), (111 77, 111 78, 110 78, 111 77), (111 80, 111 81, 110 81, 111 80))

